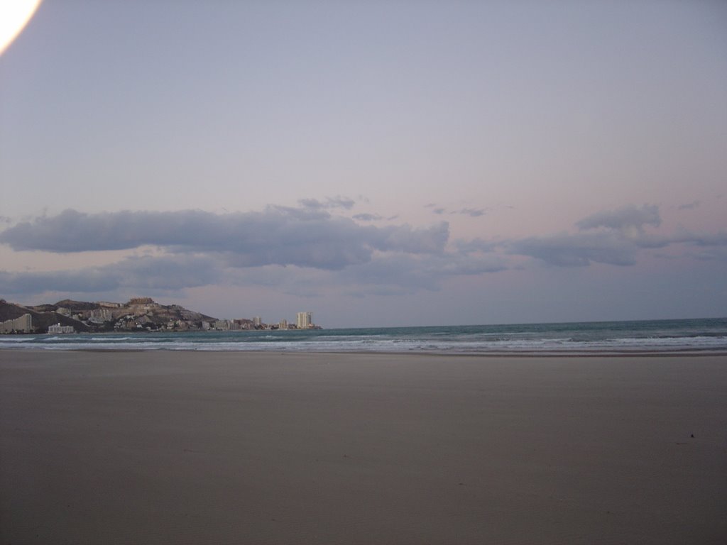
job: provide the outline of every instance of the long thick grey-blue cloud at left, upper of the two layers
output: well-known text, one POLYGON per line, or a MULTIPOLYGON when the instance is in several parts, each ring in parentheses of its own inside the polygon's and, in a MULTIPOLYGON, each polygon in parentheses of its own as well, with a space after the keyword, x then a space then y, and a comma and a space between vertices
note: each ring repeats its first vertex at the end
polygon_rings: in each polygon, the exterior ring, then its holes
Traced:
POLYGON ((66 210, 0 233, 0 242, 15 250, 71 253, 152 245, 177 254, 232 254, 231 261, 241 267, 273 264, 329 270, 367 262, 374 251, 441 252, 448 239, 446 222, 424 229, 374 227, 315 206, 270 206, 262 212, 235 214, 66 210))

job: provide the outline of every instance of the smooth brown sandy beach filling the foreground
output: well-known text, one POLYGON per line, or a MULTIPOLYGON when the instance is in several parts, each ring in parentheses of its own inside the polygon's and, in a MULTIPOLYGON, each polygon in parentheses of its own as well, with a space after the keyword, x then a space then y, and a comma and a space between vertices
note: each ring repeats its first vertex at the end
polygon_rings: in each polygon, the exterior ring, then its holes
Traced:
POLYGON ((727 357, 0 351, 0 543, 724 544, 727 357))

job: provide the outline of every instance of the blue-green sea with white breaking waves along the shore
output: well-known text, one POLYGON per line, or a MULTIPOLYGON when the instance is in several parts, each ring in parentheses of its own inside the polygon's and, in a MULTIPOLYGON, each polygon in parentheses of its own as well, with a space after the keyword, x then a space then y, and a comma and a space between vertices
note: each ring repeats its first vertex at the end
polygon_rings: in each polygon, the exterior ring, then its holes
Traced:
POLYGON ((589 354, 727 352, 727 318, 265 331, 2 335, 2 349, 589 354))

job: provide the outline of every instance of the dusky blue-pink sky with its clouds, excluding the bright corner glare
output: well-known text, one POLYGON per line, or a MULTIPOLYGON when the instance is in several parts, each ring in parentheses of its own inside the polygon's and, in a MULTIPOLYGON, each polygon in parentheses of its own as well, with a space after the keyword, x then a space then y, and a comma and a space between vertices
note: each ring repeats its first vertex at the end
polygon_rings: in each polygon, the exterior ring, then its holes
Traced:
POLYGON ((727 3, 44 0, 0 297, 324 327, 727 315, 727 3))

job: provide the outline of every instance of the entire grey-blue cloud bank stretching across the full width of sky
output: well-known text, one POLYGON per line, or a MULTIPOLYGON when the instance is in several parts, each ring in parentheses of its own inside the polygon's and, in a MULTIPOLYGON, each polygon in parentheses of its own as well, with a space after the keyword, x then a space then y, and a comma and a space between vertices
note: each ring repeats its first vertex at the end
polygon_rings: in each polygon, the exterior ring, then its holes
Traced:
MULTIPOLYGON (((435 290, 453 276, 507 268, 508 257, 530 257, 558 267, 593 262, 634 265, 643 249, 674 243, 727 246, 727 234, 682 231, 670 237, 647 233, 659 227, 656 206, 630 206, 577 222, 577 233, 491 242, 481 238, 449 243, 449 224, 431 227, 360 225, 330 209, 350 209, 345 198, 301 201, 297 208, 270 206, 262 212, 120 211, 84 214, 66 210, 37 217, 0 233, 16 251, 73 253, 155 246, 164 255, 128 257, 103 267, 52 273, 0 271, 0 291, 102 292, 118 288, 178 290, 244 281, 252 267, 305 267, 335 273, 353 290, 435 290), (368 287, 367 287, 368 286, 368 287)), ((468 213, 470 211, 467 211, 468 213)), ((478 211, 477 211, 478 212, 478 211)), ((476 216, 477 214, 470 214, 476 216)), ((369 219, 369 218, 361 218, 369 219)))

